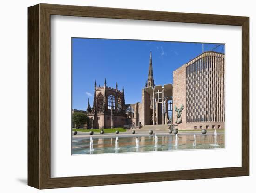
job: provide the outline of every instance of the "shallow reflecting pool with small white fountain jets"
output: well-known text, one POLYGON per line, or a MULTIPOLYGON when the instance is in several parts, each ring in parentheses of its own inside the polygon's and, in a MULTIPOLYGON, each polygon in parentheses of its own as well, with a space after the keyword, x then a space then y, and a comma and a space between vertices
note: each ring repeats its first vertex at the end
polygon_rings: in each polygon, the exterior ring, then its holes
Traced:
POLYGON ((72 140, 72 154, 224 148, 224 134, 90 137, 72 140))

